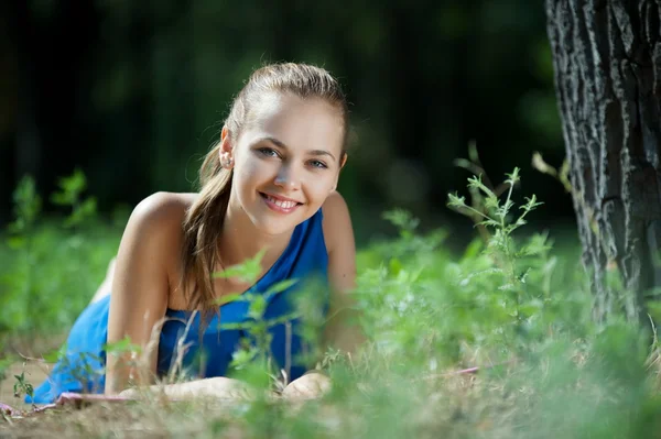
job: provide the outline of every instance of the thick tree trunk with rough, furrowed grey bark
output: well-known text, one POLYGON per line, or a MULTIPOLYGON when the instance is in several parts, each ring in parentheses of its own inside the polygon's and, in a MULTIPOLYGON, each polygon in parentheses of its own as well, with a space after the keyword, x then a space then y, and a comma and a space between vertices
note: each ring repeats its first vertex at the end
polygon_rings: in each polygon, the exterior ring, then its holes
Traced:
POLYGON ((661 285, 660 0, 546 0, 555 90, 597 321, 646 322, 661 285))

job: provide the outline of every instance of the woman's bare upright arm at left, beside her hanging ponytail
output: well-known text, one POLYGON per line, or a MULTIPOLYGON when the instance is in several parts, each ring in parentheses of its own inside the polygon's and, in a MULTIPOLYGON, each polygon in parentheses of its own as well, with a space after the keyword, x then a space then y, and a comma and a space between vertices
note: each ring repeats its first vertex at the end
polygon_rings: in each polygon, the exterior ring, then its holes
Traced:
POLYGON ((172 257, 178 257, 184 211, 175 195, 159 193, 142 200, 129 218, 112 278, 108 343, 128 337, 143 354, 140 362, 130 352, 107 355, 107 395, 123 391, 130 381, 153 382, 160 334, 160 326, 154 330, 154 325, 167 307, 167 266, 172 257))

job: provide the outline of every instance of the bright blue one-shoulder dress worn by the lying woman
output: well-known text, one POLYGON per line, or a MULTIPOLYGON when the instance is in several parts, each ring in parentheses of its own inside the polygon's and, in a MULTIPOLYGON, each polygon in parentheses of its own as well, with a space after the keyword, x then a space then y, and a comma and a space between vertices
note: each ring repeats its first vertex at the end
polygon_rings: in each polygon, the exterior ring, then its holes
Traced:
MULTIPOLYGON (((290 369, 290 380, 301 376, 307 370, 305 362, 299 358, 306 351, 304 338, 299 331, 302 321, 300 317, 289 319, 288 316, 292 317, 296 310, 292 299, 295 298, 296 292, 302 290, 300 286, 306 285, 304 282, 306 279, 321 281, 308 285, 318 287, 314 289, 313 303, 317 304, 322 316, 327 311, 328 255, 322 219, 319 209, 312 218, 299 224, 289 245, 267 274, 238 300, 221 305, 219 315, 214 314, 202 334, 199 312, 169 308, 167 319, 160 336, 158 374, 160 376, 167 374, 177 359, 178 347, 184 347, 182 365, 188 376, 226 375, 237 349, 246 343, 248 345, 254 343, 243 328, 245 325, 241 323, 252 319, 248 312, 250 303, 246 298, 261 295, 266 299, 263 318, 275 323, 269 329, 272 336, 272 359, 279 369, 290 369), (288 279, 299 282, 281 292, 272 290, 271 287, 288 279), (194 317, 186 331, 191 316, 194 317), (278 319, 286 320, 291 326, 278 319), (199 349, 201 340, 202 349, 199 349)), ((26 403, 48 404, 57 399, 63 392, 104 393, 106 382, 104 344, 108 334, 109 305, 110 296, 106 296, 90 304, 80 314, 67 338, 65 353, 61 355, 50 377, 35 387, 34 397, 25 397, 26 403)))

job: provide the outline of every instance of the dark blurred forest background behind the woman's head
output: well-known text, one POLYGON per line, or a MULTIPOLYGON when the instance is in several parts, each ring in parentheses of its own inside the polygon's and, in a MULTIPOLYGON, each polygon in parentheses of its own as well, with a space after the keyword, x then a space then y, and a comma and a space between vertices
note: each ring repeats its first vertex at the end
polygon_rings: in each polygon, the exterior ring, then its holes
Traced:
POLYGON ((102 211, 194 189, 231 98, 277 61, 323 65, 345 85, 356 144, 339 189, 359 241, 387 232, 372 219, 393 207, 425 230, 447 223, 445 194, 465 178, 452 163, 472 141, 491 173, 522 168, 545 217, 573 217, 562 187, 529 172, 534 151, 553 165, 564 155, 538 2, 10 3, 0 222, 26 173, 50 193, 82 168, 102 211))

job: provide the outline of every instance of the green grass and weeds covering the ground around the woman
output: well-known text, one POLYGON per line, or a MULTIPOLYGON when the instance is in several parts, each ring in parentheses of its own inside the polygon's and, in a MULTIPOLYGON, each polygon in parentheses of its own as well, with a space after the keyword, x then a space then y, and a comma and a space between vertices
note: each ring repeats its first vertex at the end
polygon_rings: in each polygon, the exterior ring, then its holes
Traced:
MULTIPOLYGON (((509 179, 516 183, 517 173, 509 179)), ((478 217, 488 234, 476 233, 460 254, 445 250, 444 230, 421 235, 402 211, 384 216, 399 238, 360 250, 355 294, 369 341, 359 355, 339 352, 328 362, 333 389, 322 399, 100 405, 13 426, 0 418, 0 435, 658 437, 661 369, 649 334, 617 319, 592 320, 576 249, 560 243, 570 250, 555 250, 544 233, 525 230, 521 216, 543 206, 534 199, 514 206, 507 190, 495 194, 477 178, 469 185, 484 196, 478 217), (451 374, 468 366, 481 370, 451 374)), ((470 213, 458 197, 451 205, 470 213)), ((35 221, 30 255, 24 246, 0 248, 1 285, 9 292, 0 299, 6 355, 25 336, 68 328, 102 278, 120 233, 93 218, 64 231, 35 221)), ((252 373, 245 376, 263 383, 266 370, 252 373)))

